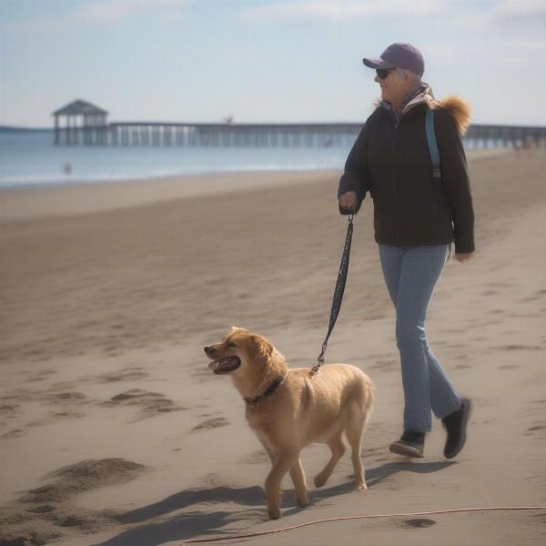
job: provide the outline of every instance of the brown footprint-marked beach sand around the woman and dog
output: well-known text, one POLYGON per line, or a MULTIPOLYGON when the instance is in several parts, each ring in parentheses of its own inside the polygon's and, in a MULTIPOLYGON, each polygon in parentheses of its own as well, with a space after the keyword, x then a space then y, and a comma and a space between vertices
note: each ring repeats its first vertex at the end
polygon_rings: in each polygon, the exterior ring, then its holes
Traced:
MULTIPOLYGON (((388 450, 401 426, 399 359, 367 199, 327 361, 377 385, 362 452, 369 490, 352 490, 347 455, 315 490, 329 453, 312 446, 312 504, 296 508, 287 479, 274 522, 267 457, 202 348, 237 325, 266 335, 292 367, 314 364, 347 225, 339 172, 0 193, 0 544, 174 545, 336 516, 545 506, 545 167, 544 153, 470 160, 476 256, 448 262, 427 329, 475 404, 452 461, 438 422, 424 460, 388 450)), ((247 542, 543 544, 545 534, 546 510, 499 511, 247 542)))

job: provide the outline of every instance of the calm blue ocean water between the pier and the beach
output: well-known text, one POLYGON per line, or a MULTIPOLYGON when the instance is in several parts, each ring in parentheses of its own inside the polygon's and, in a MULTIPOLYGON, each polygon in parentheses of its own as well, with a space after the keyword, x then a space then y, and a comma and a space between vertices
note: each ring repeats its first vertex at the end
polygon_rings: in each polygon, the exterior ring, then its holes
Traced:
POLYGON ((234 171, 341 169, 354 139, 348 137, 332 147, 54 146, 53 131, 0 131, 0 188, 234 171), (64 172, 66 164, 71 167, 69 174, 64 172))

